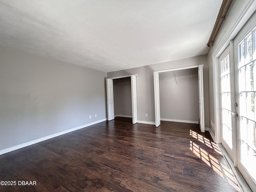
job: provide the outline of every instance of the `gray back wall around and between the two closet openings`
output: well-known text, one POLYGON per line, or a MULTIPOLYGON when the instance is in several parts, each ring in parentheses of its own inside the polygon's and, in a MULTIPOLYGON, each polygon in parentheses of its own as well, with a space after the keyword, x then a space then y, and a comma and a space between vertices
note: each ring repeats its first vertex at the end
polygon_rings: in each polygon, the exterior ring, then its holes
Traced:
POLYGON ((137 74, 137 99, 138 99, 138 120, 155 122, 154 107, 154 76, 153 72, 172 68, 195 66, 204 64, 204 112, 205 126, 209 127, 209 108, 208 108, 208 65, 206 55, 152 64, 148 66, 109 72, 108 78, 137 74), (145 114, 148 114, 146 117, 145 114))

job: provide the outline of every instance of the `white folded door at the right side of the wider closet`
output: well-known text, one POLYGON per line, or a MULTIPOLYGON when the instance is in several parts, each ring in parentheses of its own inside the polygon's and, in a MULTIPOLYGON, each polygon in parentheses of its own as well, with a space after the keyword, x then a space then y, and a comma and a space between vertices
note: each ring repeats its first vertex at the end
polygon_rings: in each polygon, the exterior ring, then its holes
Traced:
POLYGON ((199 86, 199 115, 200 130, 204 132, 204 79, 203 65, 198 67, 198 86, 199 86))

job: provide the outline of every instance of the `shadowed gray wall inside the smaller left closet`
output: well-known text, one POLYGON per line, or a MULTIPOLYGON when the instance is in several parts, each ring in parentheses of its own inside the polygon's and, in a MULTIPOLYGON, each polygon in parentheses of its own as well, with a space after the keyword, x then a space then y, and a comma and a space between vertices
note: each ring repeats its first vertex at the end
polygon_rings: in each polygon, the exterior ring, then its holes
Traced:
POLYGON ((132 89, 130 77, 114 79, 114 114, 122 116, 132 116, 132 89))

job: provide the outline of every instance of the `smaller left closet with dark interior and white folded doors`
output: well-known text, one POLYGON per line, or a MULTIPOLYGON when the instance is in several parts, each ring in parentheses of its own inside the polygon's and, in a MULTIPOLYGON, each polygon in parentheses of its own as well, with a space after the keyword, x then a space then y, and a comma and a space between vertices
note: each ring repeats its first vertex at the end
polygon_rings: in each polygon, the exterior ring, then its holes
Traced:
POLYGON ((138 122, 136 75, 108 78, 107 106, 108 121, 118 117, 124 121, 138 122))

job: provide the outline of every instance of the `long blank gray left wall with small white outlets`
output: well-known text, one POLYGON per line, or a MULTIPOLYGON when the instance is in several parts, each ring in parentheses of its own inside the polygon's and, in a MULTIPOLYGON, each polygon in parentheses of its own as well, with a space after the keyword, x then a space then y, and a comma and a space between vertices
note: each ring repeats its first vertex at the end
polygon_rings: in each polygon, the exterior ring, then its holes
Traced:
POLYGON ((105 72, 2 46, 0 58, 0 150, 106 118, 105 72))

